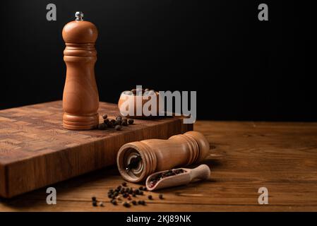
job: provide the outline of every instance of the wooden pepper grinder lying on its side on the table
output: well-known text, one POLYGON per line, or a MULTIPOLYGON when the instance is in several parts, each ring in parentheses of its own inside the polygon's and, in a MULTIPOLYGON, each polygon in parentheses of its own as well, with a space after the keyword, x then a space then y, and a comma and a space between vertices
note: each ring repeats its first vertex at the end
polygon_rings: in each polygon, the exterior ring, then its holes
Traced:
POLYGON ((168 140, 150 139, 123 145, 116 157, 119 172, 128 182, 141 182, 150 174, 201 162, 209 153, 203 134, 189 131, 168 140))

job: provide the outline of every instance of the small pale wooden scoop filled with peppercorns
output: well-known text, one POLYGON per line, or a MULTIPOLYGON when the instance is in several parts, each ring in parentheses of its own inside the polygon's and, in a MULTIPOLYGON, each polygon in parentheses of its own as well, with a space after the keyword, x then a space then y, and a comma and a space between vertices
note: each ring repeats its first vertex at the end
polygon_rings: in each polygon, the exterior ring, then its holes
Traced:
POLYGON ((166 173, 169 170, 155 172, 154 174, 150 174, 146 179, 145 186, 148 191, 153 191, 157 189, 163 189, 171 186, 179 186, 183 184, 189 184, 193 179, 208 179, 210 177, 210 169, 208 165, 200 165, 194 169, 187 168, 178 168, 172 169, 172 171, 176 172, 177 170, 183 170, 176 175, 164 177, 156 182, 156 184, 152 185, 151 181, 153 178, 157 177, 158 174, 166 173))

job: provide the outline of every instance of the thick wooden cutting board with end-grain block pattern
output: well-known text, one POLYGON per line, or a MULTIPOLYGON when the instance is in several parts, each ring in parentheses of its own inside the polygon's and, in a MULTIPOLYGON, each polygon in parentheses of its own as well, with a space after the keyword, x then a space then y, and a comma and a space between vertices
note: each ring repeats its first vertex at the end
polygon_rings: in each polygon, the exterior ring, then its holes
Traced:
MULTIPOLYGON (((119 115, 116 105, 105 102, 99 112, 109 118, 119 115)), ((135 120, 122 131, 69 131, 62 127, 61 101, 1 110, 0 196, 10 198, 114 165, 125 143, 166 139, 192 129, 181 117, 169 117, 135 120)))

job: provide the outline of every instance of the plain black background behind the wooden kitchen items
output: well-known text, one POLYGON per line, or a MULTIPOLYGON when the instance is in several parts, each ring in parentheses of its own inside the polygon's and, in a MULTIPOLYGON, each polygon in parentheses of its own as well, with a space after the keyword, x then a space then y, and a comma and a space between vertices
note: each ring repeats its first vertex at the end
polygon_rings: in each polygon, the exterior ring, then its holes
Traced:
POLYGON ((99 30, 101 101, 143 85, 196 90, 198 119, 317 120, 309 1, 1 1, 0 109, 61 99, 76 11, 99 30))

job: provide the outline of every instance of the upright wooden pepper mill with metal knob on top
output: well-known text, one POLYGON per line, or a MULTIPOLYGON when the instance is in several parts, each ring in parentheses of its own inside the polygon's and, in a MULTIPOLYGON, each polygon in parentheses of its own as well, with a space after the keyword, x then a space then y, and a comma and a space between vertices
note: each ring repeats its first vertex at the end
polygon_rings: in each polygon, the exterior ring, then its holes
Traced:
POLYGON ((66 43, 64 61, 67 68, 63 127, 86 130, 95 128, 99 123, 99 95, 94 69, 98 31, 93 23, 83 20, 82 12, 76 12, 75 16, 76 20, 67 23, 62 32, 66 43))

